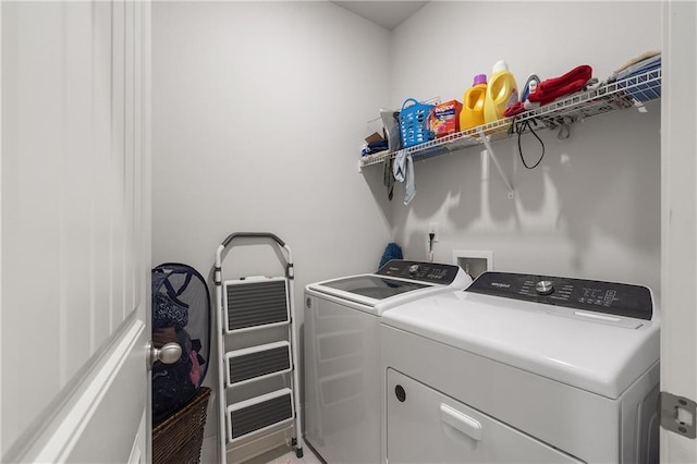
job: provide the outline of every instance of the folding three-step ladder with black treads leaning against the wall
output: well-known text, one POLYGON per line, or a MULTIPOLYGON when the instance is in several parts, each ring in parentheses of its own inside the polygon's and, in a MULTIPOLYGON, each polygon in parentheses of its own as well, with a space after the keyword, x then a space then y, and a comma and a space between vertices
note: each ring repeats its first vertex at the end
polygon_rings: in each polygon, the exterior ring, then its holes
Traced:
POLYGON ((293 280, 291 248, 272 233, 235 232, 216 252, 218 429, 222 464, 227 463, 228 445, 262 438, 265 432, 278 431, 283 426, 293 428, 291 445, 295 448, 295 455, 303 457, 293 280), (239 239, 262 239, 278 247, 279 256, 285 261, 285 276, 223 280, 224 256, 239 245, 233 244, 239 239), (244 347, 230 346, 231 338, 237 334, 274 327, 285 327, 286 337, 244 347), (231 389, 274 376, 284 377, 285 387, 243 401, 228 401, 231 389))

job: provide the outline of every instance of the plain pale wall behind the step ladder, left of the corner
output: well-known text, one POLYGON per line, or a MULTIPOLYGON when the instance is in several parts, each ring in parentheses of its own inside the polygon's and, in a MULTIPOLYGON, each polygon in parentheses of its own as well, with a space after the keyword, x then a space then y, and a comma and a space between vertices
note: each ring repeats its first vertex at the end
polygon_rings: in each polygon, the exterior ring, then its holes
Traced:
MULTIPOLYGON (((152 22, 152 264, 207 276, 230 233, 276 233, 302 321, 305 284, 375 270, 390 241, 382 173, 357 169, 389 33, 329 2, 154 2, 152 22)), ((266 246, 223 265, 281 274, 266 246)))

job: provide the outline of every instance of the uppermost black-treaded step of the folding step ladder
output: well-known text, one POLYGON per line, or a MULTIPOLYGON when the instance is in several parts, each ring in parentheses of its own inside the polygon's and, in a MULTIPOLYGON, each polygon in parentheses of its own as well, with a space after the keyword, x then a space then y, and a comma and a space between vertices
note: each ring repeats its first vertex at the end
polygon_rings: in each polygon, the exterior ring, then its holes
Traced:
POLYGON ((227 281, 223 284, 223 297, 228 316, 227 333, 271 323, 288 323, 290 320, 285 278, 227 281))

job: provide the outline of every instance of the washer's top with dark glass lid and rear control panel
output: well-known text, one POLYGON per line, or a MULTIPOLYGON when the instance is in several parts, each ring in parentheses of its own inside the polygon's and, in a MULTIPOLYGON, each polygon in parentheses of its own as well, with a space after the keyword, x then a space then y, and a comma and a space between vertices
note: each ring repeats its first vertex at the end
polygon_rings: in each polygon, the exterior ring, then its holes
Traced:
POLYGON ((416 298, 466 289, 472 278, 458 266, 393 259, 376 273, 310 283, 306 292, 321 294, 353 307, 381 315, 416 298))

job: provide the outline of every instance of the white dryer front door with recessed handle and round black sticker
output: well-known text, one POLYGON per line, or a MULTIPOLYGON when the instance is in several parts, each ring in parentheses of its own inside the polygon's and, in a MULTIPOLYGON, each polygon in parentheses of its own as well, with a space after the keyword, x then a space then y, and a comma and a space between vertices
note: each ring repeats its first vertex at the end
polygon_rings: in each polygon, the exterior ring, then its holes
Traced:
POLYGON ((583 462, 392 369, 387 404, 390 464, 583 462))

